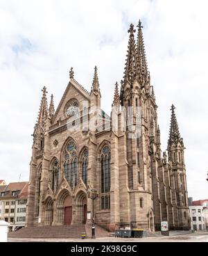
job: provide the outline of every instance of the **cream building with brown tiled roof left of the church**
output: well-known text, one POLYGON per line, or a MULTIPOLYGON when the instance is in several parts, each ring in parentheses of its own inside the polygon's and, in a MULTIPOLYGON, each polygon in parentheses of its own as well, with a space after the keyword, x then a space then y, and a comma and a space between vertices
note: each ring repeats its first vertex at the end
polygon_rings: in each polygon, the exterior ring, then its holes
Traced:
POLYGON ((1 219, 10 223, 9 231, 24 227, 26 221, 28 182, 12 182, 0 186, 1 219))

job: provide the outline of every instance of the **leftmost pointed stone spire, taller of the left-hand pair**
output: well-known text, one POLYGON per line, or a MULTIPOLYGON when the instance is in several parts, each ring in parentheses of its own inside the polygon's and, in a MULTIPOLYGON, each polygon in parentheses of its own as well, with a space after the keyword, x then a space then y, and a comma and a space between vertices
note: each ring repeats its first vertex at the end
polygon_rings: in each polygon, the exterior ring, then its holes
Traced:
POLYGON ((42 89, 42 99, 40 102, 40 110, 37 118, 37 123, 39 125, 42 125, 42 127, 44 127, 46 119, 48 118, 48 103, 46 97, 47 93, 48 92, 46 91, 46 86, 44 86, 44 88, 42 89))

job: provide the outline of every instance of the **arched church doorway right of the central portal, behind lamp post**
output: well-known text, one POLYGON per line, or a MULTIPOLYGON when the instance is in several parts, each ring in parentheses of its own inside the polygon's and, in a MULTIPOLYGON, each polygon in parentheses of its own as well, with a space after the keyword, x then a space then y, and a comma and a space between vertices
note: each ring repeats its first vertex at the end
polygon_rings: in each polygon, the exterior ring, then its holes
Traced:
POLYGON ((87 196, 80 191, 76 196, 76 223, 86 223, 87 221, 87 196))

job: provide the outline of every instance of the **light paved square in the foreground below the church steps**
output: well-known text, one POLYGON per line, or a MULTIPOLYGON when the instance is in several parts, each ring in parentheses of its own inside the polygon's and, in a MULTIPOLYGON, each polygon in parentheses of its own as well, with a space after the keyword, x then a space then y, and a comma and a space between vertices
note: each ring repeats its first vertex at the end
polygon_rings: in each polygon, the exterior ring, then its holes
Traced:
POLYGON ((208 232, 171 235, 170 237, 147 237, 144 239, 103 237, 98 239, 21 239, 9 238, 8 242, 208 242, 208 232))

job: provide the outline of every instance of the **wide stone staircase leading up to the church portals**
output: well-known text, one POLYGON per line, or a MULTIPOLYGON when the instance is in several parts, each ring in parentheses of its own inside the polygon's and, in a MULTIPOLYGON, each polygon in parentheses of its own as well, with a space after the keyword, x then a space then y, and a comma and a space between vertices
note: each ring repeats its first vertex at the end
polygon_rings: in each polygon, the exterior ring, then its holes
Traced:
MULTIPOLYGON (((96 228, 96 238, 110 237, 110 233, 98 225, 96 228)), ((87 234, 86 238, 92 237, 91 225, 73 224, 62 226, 44 226, 44 227, 24 227, 16 232, 9 232, 9 238, 37 238, 37 239, 81 239, 82 232, 87 234)))

